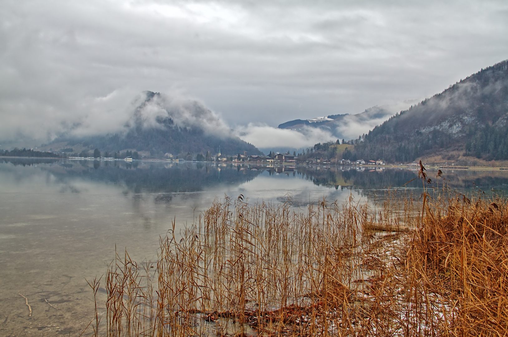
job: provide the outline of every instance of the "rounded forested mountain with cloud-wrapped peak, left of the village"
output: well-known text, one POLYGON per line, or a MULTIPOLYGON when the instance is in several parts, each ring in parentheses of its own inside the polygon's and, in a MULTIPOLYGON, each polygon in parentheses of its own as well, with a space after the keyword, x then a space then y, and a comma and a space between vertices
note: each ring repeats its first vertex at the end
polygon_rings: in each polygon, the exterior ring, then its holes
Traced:
POLYGON ((152 158, 167 152, 187 154, 261 155, 254 145, 237 136, 211 110, 197 101, 175 100, 145 91, 132 117, 120 132, 93 136, 60 136, 40 149, 80 152, 135 150, 152 158))

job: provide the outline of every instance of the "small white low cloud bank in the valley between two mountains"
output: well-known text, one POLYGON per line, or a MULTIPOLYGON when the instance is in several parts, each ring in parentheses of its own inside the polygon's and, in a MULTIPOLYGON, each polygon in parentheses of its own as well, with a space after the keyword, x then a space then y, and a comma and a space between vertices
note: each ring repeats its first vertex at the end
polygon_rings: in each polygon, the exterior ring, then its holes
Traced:
POLYGON ((336 140, 326 130, 304 127, 301 131, 278 129, 267 125, 249 124, 237 127, 238 136, 258 148, 291 147, 302 148, 316 143, 336 140))

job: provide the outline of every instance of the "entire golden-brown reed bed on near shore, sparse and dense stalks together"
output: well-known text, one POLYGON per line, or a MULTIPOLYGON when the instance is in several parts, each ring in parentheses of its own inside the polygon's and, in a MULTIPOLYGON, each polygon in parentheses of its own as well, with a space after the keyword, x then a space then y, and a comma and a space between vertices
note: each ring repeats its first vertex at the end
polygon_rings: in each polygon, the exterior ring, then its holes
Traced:
POLYGON ((117 255, 105 334, 506 335, 507 213, 427 190, 305 212, 225 197, 173 223, 156 262, 117 255))

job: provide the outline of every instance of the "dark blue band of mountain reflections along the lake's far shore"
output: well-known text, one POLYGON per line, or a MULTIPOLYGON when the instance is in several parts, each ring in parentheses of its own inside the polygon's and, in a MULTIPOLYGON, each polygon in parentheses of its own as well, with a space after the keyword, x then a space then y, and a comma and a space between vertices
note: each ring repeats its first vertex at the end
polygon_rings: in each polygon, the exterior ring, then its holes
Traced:
MULTIPOLYGON (((255 179, 261 173, 271 175, 284 174, 288 177, 303 178, 316 186, 352 189, 366 192, 386 188, 422 187, 422 182, 415 179, 417 169, 384 168, 384 167, 320 167, 320 166, 266 166, 250 163, 216 164, 210 162, 145 162, 108 160, 77 160, 33 158, 1 158, 0 163, 11 163, 14 166, 49 164, 41 169, 51 172, 60 182, 68 179, 84 178, 93 181, 124 185, 132 193, 180 193, 199 192, 213 189, 219 185, 238 186, 255 179), (62 170, 63 169, 63 170, 62 170), (413 180, 413 181, 411 181, 413 180), (408 183, 408 181, 411 181, 408 183)), ((429 169, 428 175, 433 178, 436 169, 429 169)), ((508 185, 508 171, 492 169, 454 170, 443 169, 442 179, 433 179, 431 186, 445 182, 453 190, 469 192, 473 188, 483 190, 503 190, 508 185)), ((289 186, 288 190, 291 190, 289 186)), ((157 200, 169 200, 167 196, 156 197, 157 200)))

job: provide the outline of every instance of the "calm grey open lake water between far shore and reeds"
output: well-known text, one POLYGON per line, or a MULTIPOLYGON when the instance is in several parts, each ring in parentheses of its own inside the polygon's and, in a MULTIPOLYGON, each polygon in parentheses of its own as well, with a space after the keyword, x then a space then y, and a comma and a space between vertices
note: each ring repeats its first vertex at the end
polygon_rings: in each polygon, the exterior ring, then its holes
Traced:
MULTIPOLYGON (((508 187, 508 171, 443 171, 461 192, 508 187)), ((272 203, 289 197, 298 210, 323 197, 367 201, 416 176, 405 168, 2 158, 0 335, 79 335, 93 315, 85 278, 104 274, 115 249, 120 255, 127 249, 137 261, 155 260, 158 239, 173 220, 181 229, 225 195, 272 203)), ((420 193, 420 186, 416 179, 405 187, 420 193)), ((104 298, 101 289, 100 312, 104 298)))

